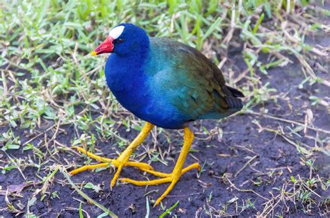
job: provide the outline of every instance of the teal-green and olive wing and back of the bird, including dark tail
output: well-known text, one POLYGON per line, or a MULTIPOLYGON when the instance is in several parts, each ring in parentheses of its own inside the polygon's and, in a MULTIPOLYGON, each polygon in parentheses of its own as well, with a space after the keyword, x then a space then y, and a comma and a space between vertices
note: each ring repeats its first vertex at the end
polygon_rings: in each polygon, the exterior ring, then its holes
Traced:
POLYGON ((166 101, 189 120, 221 119, 242 109, 242 92, 228 87, 221 70, 200 51, 166 38, 151 38, 153 74, 166 101))

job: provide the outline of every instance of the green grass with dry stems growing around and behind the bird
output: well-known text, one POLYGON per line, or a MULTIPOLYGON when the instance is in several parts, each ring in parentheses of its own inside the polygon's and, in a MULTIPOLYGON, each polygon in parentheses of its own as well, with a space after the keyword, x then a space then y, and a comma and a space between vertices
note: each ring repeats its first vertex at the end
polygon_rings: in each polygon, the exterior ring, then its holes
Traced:
MULTIPOLYGON (((40 173, 45 170, 42 165, 49 157, 58 150, 67 152, 71 145, 83 145, 90 151, 97 151, 95 142, 113 139, 113 144, 123 147, 128 140, 118 133, 118 127, 123 126, 127 132, 140 128, 141 122, 123 110, 107 88, 103 67, 105 57, 89 56, 109 28, 120 22, 132 22, 145 28, 152 36, 171 37, 196 47, 221 66, 226 65, 221 61, 226 58, 228 49, 242 42, 246 70, 235 78, 228 72, 224 73, 228 83, 237 83, 246 95, 243 110, 246 114, 254 112, 256 115, 260 111, 254 111, 255 108, 278 100, 276 88, 269 82, 260 81, 260 75, 267 75, 273 67, 287 66, 292 62, 292 56, 297 58, 301 67, 302 85, 317 83, 329 88, 330 82, 317 76, 319 74, 314 72, 310 61, 329 53, 325 48, 312 47, 305 42, 308 34, 329 31, 329 26, 315 19, 320 13, 329 16, 329 10, 314 8, 306 0, 287 2, 32 0, 0 3, 0 127, 9 126, 8 131, 0 133, 1 150, 5 153, 17 149, 23 152, 32 150, 35 158, 34 161, 31 158, 13 159, 1 167, 2 173, 27 165, 36 167, 40 173), (269 59, 265 63, 260 56, 268 56, 269 59), (73 126, 76 137, 67 144, 61 144, 56 140, 56 133, 67 124, 73 126), (16 129, 35 135, 46 132, 51 136, 39 146, 30 142, 22 144, 19 136, 15 135, 16 129), (53 144, 56 148, 49 148, 53 144), (42 147, 47 148, 46 152, 40 151, 42 147)), ((329 97, 311 96, 308 102, 330 111, 329 97)), ((299 131, 265 130, 283 136, 297 147, 306 161, 312 160, 314 147, 292 141, 299 131)), ((171 141, 166 130, 157 131, 162 132, 168 142, 171 141)), ((203 136, 209 138, 212 134, 204 131, 203 136)), ((322 142, 326 143, 326 140, 322 142)), ((147 156, 149 162, 159 161, 166 165, 167 160, 157 149, 149 149, 145 156, 138 158, 142 160, 147 156)), ((69 167, 66 163, 63 165, 69 167)), ((62 173, 65 174, 64 171, 62 173)), ((281 197, 294 198, 295 203, 302 205, 307 203, 309 208, 317 206, 311 186, 317 183, 325 189, 329 187, 329 181, 308 179, 292 181, 294 192, 283 191, 281 197)), ((261 182, 255 181, 256 185, 261 182)), ((95 190, 92 183, 86 188, 90 186, 95 190)), ((56 193, 53 196, 56 198, 56 193)), ((254 208, 253 203, 246 199, 239 210, 254 208)), ((272 203, 276 202, 269 202, 269 205, 272 203)), ((207 205, 201 207, 210 214, 217 214, 207 205)), ((225 209, 221 215, 226 214, 225 209)), ((107 208, 102 210, 109 212, 107 208)), ((82 214, 79 208, 79 215, 82 214)))

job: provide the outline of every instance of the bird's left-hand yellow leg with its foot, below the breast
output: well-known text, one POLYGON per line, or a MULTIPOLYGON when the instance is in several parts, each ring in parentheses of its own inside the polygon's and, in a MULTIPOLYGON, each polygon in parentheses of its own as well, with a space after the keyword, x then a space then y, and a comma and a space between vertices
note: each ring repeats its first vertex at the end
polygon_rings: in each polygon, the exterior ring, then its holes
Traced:
POLYGON ((111 165, 114 165, 115 167, 117 167, 117 171, 116 174, 113 176, 113 179, 111 181, 111 187, 113 187, 116 184, 116 181, 120 175, 120 171, 123 169, 123 167, 126 166, 132 166, 132 167, 137 167, 143 171, 146 170, 153 170, 153 168, 143 162, 131 162, 128 161, 129 160, 129 156, 131 156, 131 154, 133 153, 133 151, 137 148, 137 146, 139 146, 139 144, 141 144, 143 142, 143 140, 149 135, 150 131, 152 130, 152 128, 154 127, 153 124, 150 124, 148 122, 146 122, 146 125, 142 128, 141 132, 139 133, 139 135, 133 140, 133 142, 131 144, 129 144, 129 146, 127 146, 127 148, 123 151, 123 153, 120 154, 120 156, 116 159, 109 159, 109 158, 102 158, 100 156, 97 156, 93 153, 90 153, 88 151, 86 151, 85 149, 82 149, 81 147, 77 147, 75 146, 74 148, 77 149, 78 151, 80 151, 81 153, 85 153, 86 156, 89 156, 95 160, 99 160, 100 162, 104 162, 98 165, 86 165, 83 167, 80 167, 78 169, 74 169, 72 171, 70 171, 71 175, 77 174, 81 171, 85 171, 87 169, 95 169, 98 167, 106 167, 107 165, 109 165, 109 163, 111 165))

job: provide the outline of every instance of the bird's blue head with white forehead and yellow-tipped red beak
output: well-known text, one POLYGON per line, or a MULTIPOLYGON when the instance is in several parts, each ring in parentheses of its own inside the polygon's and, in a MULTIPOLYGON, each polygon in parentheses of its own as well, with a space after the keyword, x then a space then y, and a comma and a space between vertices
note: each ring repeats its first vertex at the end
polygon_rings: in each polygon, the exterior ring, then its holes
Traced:
POLYGON ((107 39, 104 40, 91 56, 101 53, 116 53, 119 56, 136 55, 149 46, 149 37, 146 32, 134 24, 119 24, 111 28, 107 39))

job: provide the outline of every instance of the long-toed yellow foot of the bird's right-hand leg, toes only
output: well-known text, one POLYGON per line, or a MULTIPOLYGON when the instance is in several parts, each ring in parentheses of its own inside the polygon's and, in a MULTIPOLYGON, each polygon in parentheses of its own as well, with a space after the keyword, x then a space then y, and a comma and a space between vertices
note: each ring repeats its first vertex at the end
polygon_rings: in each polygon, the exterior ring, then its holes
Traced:
POLYGON ((199 163, 196 162, 182 170, 175 170, 175 168, 174 168, 173 172, 171 174, 164 174, 162 172, 154 171, 152 169, 151 170, 150 169, 141 169, 142 171, 146 171, 149 174, 159 176, 162 178, 151 180, 151 181, 135 181, 130 178, 120 178, 119 181, 126 182, 126 183, 132 183, 133 185, 158 185, 158 184, 162 184, 162 183, 171 183, 168 186, 167 190, 162 194, 162 196, 160 196, 159 199, 157 199, 157 201, 155 203, 155 206, 157 206, 160 203, 160 201, 162 201, 162 199, 164 199, 164 197, 169 192, 171 192, 175 183, 178 182, 180 176, 182 176, 182 174, 186 173, 187 171, 189 171, 191 169, 198 169, 198 171, 199 171, 199 170, 201 170, 201 165, 199 165, 199 163))

